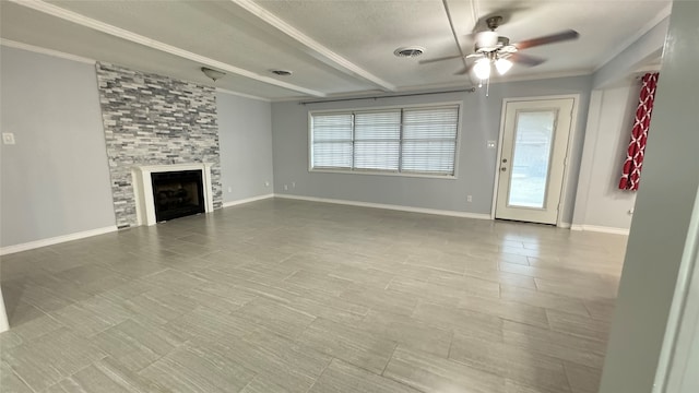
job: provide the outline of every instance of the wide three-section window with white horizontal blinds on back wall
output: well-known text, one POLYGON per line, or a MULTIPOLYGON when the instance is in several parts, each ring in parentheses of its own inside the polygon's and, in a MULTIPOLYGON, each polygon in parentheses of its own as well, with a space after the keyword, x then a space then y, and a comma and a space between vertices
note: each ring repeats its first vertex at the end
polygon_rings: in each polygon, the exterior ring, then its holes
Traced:
POLYGON ((453 176, 459 106, 310 114, 316 170, 453 176))

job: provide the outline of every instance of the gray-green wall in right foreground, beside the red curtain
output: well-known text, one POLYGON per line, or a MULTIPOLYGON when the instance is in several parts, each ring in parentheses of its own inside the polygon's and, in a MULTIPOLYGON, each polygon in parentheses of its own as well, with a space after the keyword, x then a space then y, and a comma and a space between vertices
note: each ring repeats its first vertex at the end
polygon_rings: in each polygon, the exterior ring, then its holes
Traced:
POLYGON ((650 393, 660 382, 678 269, 699 241, 688 237, 699 188, 698 20, 699 2, 673 3, 601 393, 650 393))

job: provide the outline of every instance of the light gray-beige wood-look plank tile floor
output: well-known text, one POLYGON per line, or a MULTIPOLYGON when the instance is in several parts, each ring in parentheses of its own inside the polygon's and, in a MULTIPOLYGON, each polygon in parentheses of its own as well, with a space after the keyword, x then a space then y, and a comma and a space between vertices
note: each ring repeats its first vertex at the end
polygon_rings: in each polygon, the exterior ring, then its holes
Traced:
POLYGON ((277 199, 5 255, 1 386, 594 393, 625 245, 277 199))

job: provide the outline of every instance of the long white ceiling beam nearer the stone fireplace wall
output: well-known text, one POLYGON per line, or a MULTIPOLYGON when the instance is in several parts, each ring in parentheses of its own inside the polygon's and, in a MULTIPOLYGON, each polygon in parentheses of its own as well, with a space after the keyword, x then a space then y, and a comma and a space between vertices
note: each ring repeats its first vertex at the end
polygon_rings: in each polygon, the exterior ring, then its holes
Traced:
POLYGON ((44 1, 39 1, 39 0, 9 0, 12 1, 14 3, 17 3, 20 5, 24 5, 26 8, 33 9, 35 11, 39 11, 39 12, 44 12, 46 14, 49 14, 51 16, 56 16, 56 17, 60 17, 64 21, 68 22, 72 22, 75 23, 78 25, 84 26, 84 27, 88 27, 108 35, 111 35, 114 37, 117 38, 121 38, 121 39, 126 39, 129 40, 131 43, 135 43, 135 44, 140 44, 143 46, 146 46, 149 48, 152 49, 156 49, 166 53, 170 53, 183 59, 188 59, 198 63, 201 63, 202 66, 206 66, 210 68, 214 68, 214 69, 218 69, 222 71, 226 71, 226 72, 230 72, 233 74, 237 74, 240 76, 245 76, 245 78, 249 78, 251 80, 258 81, 258 82, 262 82, 262 83, 266 83, 266 84, 271 84, 277 87, 283 87, 283 88, 287 88, 294 92, 298 92, 298 93, 304 93, 304 94, 308 94, 311 96, 316 96, 316 97, 324 97, 327 96, 325 93, 322 92, 318 92, 315 90, 310 90, 310 88, 306 88, 306 87, 301 87, 301 86, 297 86, 295 84, 291 84, 291 83, 286 83, 283 81, 277 81, 275 79, 269 78, 269 76, 263 76, 260 75, 258 73, 254 73, 252 71, 248 71, 228 63, 225 63, 223 61, 218 61, 212 58, 208 58, 205 56, 201 56, 181 48, 178 48, 176 46, 173 45, 168 45, 165 43, 161 43, 158 40, 149 38, 146 36, 142 36, 140 34, 135 34, 133 32, 129 32, 127 29, 94 20, 92 17, 87 17, 85 15, 79 14, 76 12, 73 11, 69 11, 66 9, 62 9, 60 7, 54 5, 54 4, 49 4, 47 2, 44 1))

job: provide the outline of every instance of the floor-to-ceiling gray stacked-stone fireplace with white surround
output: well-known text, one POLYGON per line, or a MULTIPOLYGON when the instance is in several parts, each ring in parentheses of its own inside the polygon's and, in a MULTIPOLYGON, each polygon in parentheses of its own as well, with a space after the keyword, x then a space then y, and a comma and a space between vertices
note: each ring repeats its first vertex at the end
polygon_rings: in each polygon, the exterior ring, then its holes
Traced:
POLYGON ((221 209, 215 90, 104 62, 96 67, 117 227, 158 222, 152 174, 201 172, 201 196, 175 184, 159 194, 162 205, 185 209, 197 199, 205 213, 221 209))

